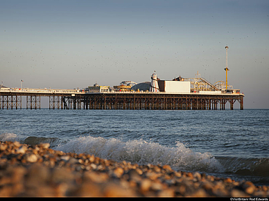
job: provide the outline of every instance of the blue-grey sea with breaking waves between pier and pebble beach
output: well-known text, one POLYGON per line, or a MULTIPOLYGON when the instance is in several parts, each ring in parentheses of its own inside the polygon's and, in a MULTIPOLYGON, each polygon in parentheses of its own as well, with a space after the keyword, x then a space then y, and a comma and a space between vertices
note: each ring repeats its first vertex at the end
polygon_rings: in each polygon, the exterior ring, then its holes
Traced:
POLYGON ((0 141, 269 185, 269 110, 0 110, 0 141))

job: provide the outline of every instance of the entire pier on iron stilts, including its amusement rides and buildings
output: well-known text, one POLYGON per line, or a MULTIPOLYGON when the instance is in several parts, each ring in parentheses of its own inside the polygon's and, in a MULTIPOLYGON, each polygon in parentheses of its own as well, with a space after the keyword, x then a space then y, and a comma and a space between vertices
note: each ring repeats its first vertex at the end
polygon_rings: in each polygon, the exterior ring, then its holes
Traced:
POLYGON ((175 77, 162 80, 154 71, 150 84, 123 81, 119 86, 89 86, 79 89, 8 88, 0 87, 0 109, 21 109, 22 97, 26 97, 26 109, 40 109, 41 97, 49 97, 49 109, 64 110, 225 110, 234 109, 234 103, 243 110, 243 93, 228 85, 227 63, 224 68, 226 82, 211 84, 200 77, 175 77))

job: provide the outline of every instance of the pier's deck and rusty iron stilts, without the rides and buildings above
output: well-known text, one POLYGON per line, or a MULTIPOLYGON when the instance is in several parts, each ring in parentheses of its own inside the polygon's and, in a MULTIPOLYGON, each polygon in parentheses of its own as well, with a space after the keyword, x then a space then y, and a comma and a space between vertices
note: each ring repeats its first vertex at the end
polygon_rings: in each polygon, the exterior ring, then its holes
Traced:
POLYGON ((49 97, 49 109, 64 110, 230 110, 234 103, 243 110, 242 93, 191 93, 114 91, 86 93, 83 90, 1 88, 0 109, 40 109, 41 97, 49 97))

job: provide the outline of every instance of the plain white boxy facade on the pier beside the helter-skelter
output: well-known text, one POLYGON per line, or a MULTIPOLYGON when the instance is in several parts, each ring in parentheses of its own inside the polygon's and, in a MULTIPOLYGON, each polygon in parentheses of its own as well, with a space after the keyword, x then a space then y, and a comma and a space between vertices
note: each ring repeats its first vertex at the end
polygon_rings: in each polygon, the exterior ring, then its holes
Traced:
POLYGON ((171 93, 190 93, 191 82, 164 81, 164 91, 171 93))

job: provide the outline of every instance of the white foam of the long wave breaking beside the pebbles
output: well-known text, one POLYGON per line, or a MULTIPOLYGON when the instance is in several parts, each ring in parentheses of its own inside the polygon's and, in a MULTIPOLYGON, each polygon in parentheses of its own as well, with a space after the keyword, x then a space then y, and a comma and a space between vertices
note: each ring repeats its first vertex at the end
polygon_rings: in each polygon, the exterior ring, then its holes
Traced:
POLYGON ((224 171, 223 166, 210 153, 194 152, 180 142, 177 142, 176 147, 167 147, 144 140, 123 142, 115 138, 87 136, 71 140, 55 149, 88 153, 118 162, 126 160, 138 164, 169 164, 176 170, 224 171))

